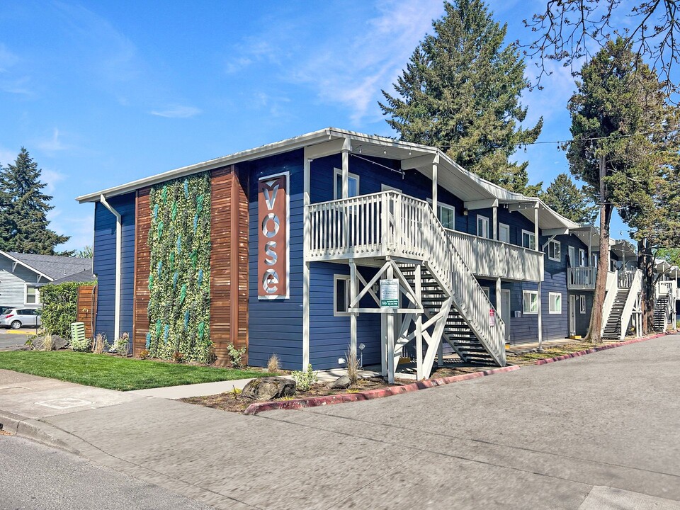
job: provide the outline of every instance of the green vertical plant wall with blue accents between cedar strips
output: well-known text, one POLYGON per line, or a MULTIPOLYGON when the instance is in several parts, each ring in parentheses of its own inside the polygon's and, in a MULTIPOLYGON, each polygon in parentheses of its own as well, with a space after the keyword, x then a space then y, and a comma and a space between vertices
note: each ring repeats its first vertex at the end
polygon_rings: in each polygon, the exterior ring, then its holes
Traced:
POLYGON ((150 356, 210 361, 210 173, 151 190, 150 356))

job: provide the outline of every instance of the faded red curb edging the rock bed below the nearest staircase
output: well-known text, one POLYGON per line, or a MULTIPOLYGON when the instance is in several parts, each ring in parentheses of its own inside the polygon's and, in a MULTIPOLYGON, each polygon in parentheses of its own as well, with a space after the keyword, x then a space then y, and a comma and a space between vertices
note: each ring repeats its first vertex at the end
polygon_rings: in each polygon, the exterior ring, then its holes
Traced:
POLYGON ((519 365, 509 365, 501 368, 492 368, 483 372, 472 372, 463 375, 452 375, 448 378, 429 379, 413 382, 404 386, 390 386, 378 390, 368 390, 360 393, 342 393, 340 395, 327 395, 325 397, 309 397, 295 400, 278 400, 276 402, 257 402, 250 404, 244 414, 258 414, 263 411, 274 411, 276 409, 304 409, 305 407, 317 407, 331 404, 342 404, 344 402, 359 402, 361 400, 372 400, 382 397, 391 397, 401 393, 426 390, 430 387, 442 386, 463 380, 477 379, 495 373, 512 372, 519 370, 519 365))

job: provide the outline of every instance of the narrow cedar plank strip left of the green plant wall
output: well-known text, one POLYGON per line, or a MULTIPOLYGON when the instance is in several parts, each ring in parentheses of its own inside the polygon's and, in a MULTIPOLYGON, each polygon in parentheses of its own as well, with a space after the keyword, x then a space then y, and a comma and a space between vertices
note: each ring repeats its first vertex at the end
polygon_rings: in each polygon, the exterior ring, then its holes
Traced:
POLYGON ((151 228, 150 188, 137 192, 137 234, 135 249, 135 334, 132 341, 133 352, 139 353, 147 346, 149 332, 149 229, 151 228))

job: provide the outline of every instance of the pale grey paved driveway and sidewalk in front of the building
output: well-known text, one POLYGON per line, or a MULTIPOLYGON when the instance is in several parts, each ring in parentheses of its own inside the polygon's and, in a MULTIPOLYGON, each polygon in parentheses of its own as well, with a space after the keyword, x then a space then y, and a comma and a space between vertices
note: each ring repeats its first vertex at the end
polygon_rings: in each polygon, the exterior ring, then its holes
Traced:
POLYGON ((257 416, 1 370, 0 422, 220 509, 680 509, 679 363, 666 336, 257 416))

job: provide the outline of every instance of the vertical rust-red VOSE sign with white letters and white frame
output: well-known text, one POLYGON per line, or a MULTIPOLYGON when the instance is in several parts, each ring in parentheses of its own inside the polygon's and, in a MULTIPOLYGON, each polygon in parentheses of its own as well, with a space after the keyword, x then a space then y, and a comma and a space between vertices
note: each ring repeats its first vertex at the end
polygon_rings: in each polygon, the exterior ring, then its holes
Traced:
POLYGON ((288 174, 257 183, 259 299, 288 297, 288 174))

